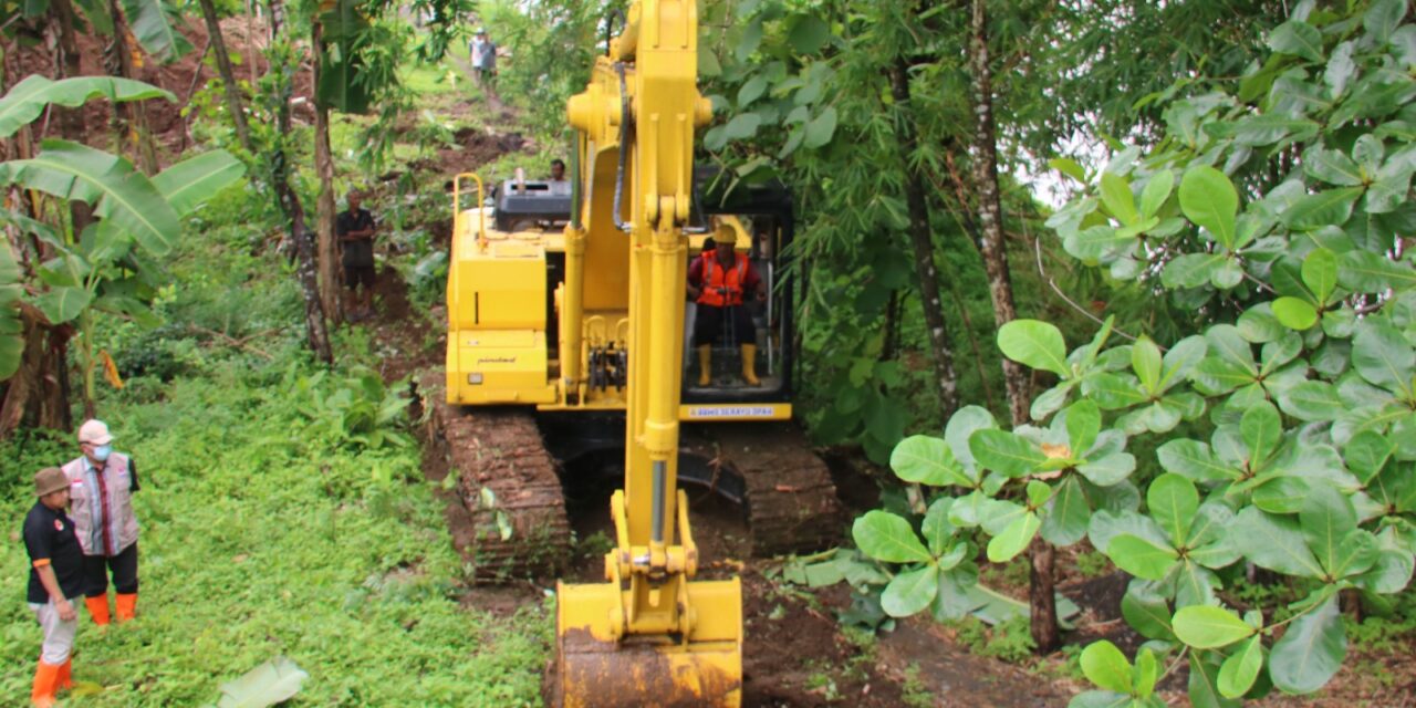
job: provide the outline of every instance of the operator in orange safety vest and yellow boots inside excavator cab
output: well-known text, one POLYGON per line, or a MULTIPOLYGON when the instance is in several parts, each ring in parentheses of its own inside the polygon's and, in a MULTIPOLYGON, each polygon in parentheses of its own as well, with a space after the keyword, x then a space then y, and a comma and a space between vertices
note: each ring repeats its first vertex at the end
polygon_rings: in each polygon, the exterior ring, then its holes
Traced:
POLYGON ((746 253, 738 253, 738 232, 719 224, 714 232, 715 248, 704 252, 688 266, 688 296, 698 303, 694 321, 694 347, 698 348, 698 385, 712 384, 712 347, 728 327, 729 344, 742 350, 742 379, 749 387, 762 385, 756 372, 758 334, 752 313, 742 295, 752 290, 758 300, 766 300, 766 283, 758 278, 746 253))

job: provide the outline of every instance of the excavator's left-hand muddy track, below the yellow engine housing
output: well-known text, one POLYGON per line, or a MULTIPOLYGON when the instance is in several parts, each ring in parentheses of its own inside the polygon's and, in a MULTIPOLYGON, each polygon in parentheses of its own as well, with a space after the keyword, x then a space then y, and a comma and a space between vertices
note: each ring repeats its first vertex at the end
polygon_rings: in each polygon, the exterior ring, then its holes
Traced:
POLYGON ((440 387, 425 402, 425 456, 433 479, 457 474, 455 494, 469 523, 452 524, 453 544, 472 561, 474 578, 559 572, 571 552, 571 524, 535 412, 449 405, 440 387))

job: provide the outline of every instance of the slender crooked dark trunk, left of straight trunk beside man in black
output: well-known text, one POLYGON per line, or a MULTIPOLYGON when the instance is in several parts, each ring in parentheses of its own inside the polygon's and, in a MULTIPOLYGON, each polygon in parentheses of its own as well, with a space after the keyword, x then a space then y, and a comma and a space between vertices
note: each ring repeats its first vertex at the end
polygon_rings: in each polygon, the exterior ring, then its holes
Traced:
MULTIPOLYGON (((283 7, 280 0, 270 1, 270 44, 276 44, 280 33, 283 7)), ((310 350, 324 364, 334 362, 334 353, 330 348, 330 336, 324 327, 324 307, 320 303, 320 283, 316 275, 314 245, 312 234, 304 227, 304 207, 300 205, 300 195, 290 187, 289 163, 285 154, 285 142, 290 139, 290 91, 292 74, 296 67, 280 65, 272 61, 270 68, 280 72, 279 99, 276 101, 276 149, 270 156, 270 184, 275 187, 280 212, 290 224, 290 238, 295 242, 295 253, 299 261, 296 272, 300 278, 300 290, 304 295, 304 329, 310 340, 310 350)))

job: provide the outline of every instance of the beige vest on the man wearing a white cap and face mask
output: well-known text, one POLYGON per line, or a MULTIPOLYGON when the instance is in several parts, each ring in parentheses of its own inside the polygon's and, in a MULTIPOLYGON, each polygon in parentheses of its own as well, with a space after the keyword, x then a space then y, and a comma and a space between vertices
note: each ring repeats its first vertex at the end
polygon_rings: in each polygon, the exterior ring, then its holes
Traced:
POLYGON ((74 520, 74 535, 79 538, 84 555, 118 555, 137 542, 137 517, 133 514, 133 477, 127 473, 127 456, 112 453, 103 464, 103 490, 101 494, 95 477, 88 474, 84 457, 69 460, 64 466, 69 477, 69 518, 74 520), (93 506, 103 504, 103 527, 93 527, 93 506), (105 532, 108 544, 105 544, 105 532), (105 548, 106 545, 106 548, 105 548))

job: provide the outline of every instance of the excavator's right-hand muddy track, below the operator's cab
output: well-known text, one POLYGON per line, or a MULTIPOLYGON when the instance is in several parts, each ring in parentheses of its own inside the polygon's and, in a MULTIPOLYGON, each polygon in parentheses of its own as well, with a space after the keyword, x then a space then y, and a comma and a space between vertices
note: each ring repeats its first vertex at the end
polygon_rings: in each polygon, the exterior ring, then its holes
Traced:
POLYGON ((680 474, 743 507, 752 555, 818 551, 837 544, 845 510, 826 463, 801 430, 782 423, 714 423, 694 430, 685 452, 709 460, 680 474))

